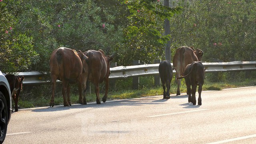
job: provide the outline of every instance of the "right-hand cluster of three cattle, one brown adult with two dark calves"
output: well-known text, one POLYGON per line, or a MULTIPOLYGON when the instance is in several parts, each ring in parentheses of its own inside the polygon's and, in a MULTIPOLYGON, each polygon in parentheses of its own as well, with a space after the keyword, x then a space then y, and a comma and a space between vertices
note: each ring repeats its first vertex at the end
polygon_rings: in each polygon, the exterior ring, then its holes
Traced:
POLYGON ((181 78, 185 78, 188 102, 196 105, 196 87, 198 86, 198 105, 202 105, 201 92, 204 84, 204 66, 202 62, 203 51, 193 47, 182 46, 176 50, 173 58, 173 68, 167 60, 160 62, 159 75, 164 89, 164 99, 170 98, 170 82, 172 81, 172 70, 176 70, 178 83, 177 96, 180 95, 181 78), (192 90, 191 90, 192 87, 192 90), (191 96, 192 94, 192 96, 191 96))

